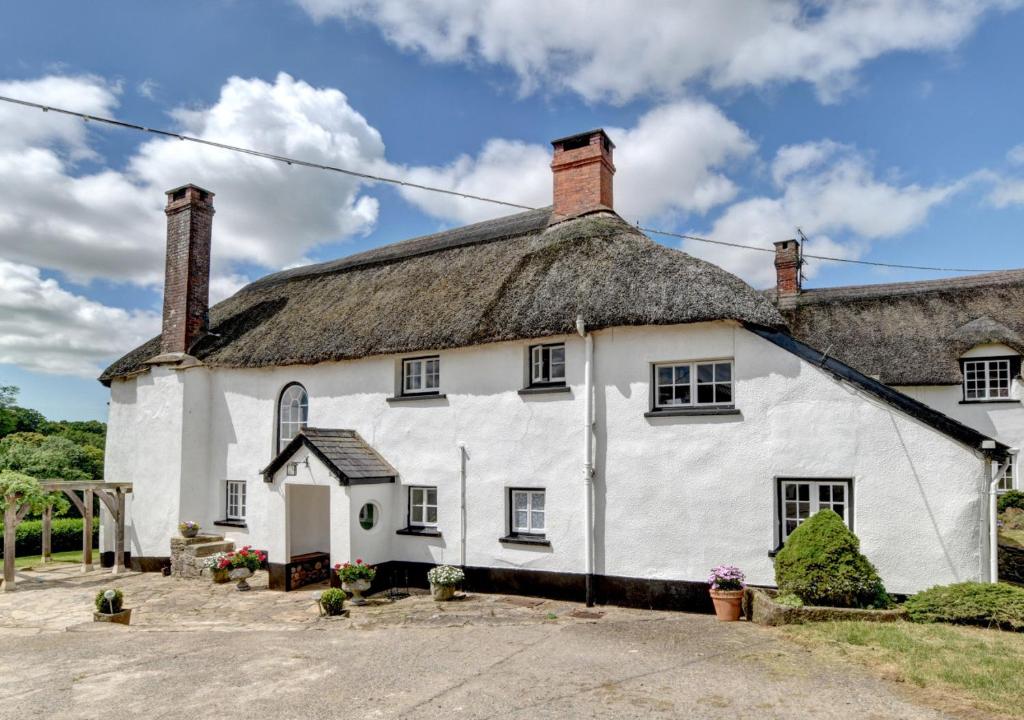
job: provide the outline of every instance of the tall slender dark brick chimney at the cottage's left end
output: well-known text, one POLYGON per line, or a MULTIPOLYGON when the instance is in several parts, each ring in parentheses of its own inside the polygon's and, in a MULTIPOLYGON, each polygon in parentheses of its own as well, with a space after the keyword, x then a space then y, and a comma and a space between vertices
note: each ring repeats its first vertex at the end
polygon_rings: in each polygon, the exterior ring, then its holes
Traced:
POLYGON ((196 185, 167 192, 167 273, 160 351, 188 352, 206 332, 210 306, 213 193, 196 185))

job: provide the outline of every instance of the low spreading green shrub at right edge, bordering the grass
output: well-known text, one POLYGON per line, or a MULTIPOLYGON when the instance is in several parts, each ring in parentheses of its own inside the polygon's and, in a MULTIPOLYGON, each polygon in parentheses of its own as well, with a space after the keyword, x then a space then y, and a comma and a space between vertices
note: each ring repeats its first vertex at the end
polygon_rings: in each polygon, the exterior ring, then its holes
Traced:
POLYGON ((937 585, 907 598, 903 606, 915 623, 1024 631, 1024 588, 1005 583, 937 585))

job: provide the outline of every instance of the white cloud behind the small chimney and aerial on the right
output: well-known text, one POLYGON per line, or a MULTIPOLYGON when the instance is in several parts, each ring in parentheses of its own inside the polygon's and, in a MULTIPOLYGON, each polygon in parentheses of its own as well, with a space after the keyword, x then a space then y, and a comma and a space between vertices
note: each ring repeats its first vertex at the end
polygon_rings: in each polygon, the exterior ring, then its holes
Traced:
MULTIPOLYGON (((805 252, 855 259, 872 241, 920 227, 933 208, 970 182, 924 187, 886 181, 854 149, 830 140, 780 149, 772 176, 779 195, 742 200, 728 207, 710 231, 692 235, 770 249, 776 241, 796 237, 800 226, 811 239, 805 252)), ((774 284, 775 269, 767 252, 694 241, 685 241, 683 248, 755 287, 774 284)), ((813 277, 822 264, 809 263, 805 273, 813 277)))

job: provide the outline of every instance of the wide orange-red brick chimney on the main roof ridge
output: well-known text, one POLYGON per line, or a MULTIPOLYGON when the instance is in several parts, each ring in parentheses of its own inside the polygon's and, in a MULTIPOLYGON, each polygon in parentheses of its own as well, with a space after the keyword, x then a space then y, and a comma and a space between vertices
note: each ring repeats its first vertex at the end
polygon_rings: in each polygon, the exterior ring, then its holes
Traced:
POLYGON ((604 130, 552 140, 551 160, 554 175, 553 221, 564 220, 595 210, 611 210, 611 176, 615 166, 611 151, 615 146, 604 130))

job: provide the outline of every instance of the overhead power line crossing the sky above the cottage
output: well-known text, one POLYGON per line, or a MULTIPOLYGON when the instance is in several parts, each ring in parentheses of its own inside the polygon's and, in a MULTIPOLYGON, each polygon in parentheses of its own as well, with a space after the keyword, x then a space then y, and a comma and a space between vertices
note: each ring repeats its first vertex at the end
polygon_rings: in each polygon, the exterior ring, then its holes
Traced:
MULTIPOLYGON (((145 125, 138 125, 136 123, 129 123, 123 120, 115 120, 114 118, 104 118, 97 115, 89 115, 88 113, 79 113, 73 110, 67 110, 65 108, 55 108, 53 105, 47 105, 40 102, 33 102, 31 100, 23 100, 16 97, 6 97, 0 95, 0 101, 8 102, 11 104, 22 105, 25 108, 35 108, 41 110, 44 113, 58 113, 60 115, 67 115, 75 118, 80 118, 85 122, 96 122, 102 123, 104 125, 112 125, 114 127, 122 128, 125 130, 135 130, 137 132, 147 132, 154 135, 159 135, 162 137, 173 137, 178 140, 186 142, 196 142, 202 145, 208 145, 210 147, 218 147, 220 150, 229 151, 231 153, 241 153, 242 155, 248 155, 255 158, 262 158, 264 160, 272 160, 279 163, 285 163, 286 165, 298 165, 300 167, 312 168, 314 170, 328 170, 330 172, 337 172, 343 175, 349 175, 351 177, 358 177, 364 180, 370 180, 372 182, 385 182, 389 184, 398 185, 400 187, 409 187, 412 189, 424 190, 427 193, 439 193, 441 195, 454 196, 456 198, 463 198, 465 200, 476 200, 481 203, 490 203, 493 205, 503 205, 509 208, 516 208, 518 210, 538 210, 539 208, 531 207, 529 205, 521 205, 519 203, 511 203, 505 200, 498 200, 497 198, 487 198, 480 195, 471 195, 468 193, 460 193, 458 190, 449 189, 446 187, 434 187, 432 185, 424 185, 418 182, 410 182, 408 180, 402 180, 396 177, 384 177, 382 175, 374 175, 372 173, 359 172, 357 170, 349 170, 348 168, 338 167, 336 165, 326 165, 324 163, 314 163, 308 160, 300 160, 298 158, 290 158, 284 155, 275 155, 273 153, 264 153, 262 151, 253 150, 251 147, 241 147, 239 145, 231 145, 226 142, 217 142, 215 140, 208 140, 202 137, 195 137, 193 135, 185 135, 179 132, 172 132, 170 130, 162 130, 160 128, 146 127, 145 125)), ((741 243, 729 243, 724 240, 712 240, 710 238, 701 238, 699 236, 685 235, 682 232, 672 232, 669 230, 660 230, 654 227, 644 227, 637 224, 637 228, 644 231, 650 232, 652 235, 667 236, 670 238, 679 238, 682 240, 691 240, 697 243, 708 243, 710 245, 721 245, 730 248, 739 248, 742 250, 755 250, 758 252, 774 253, 775 251, 771 248, 762 248, 756 245, 743 245, 741 243)), ((803 235, 803 232, 801 232, 803 235)), ((810 255, 804 253, 802 255, 805 258, 813 258, 815 260, 826 260, 828 262, 847 262, 856 265, 872 265, 874 267, 892 267, 898 269, 906 270, 930 270, 934 272, 990 272, 991 270, 980 270, 976 268, 965 268, 965 267, 932 267, 928 265, 904 265, 894 262, 872 262, 870 260, 853 260, 845 257, 830 257, 827 255, 810 255)))

